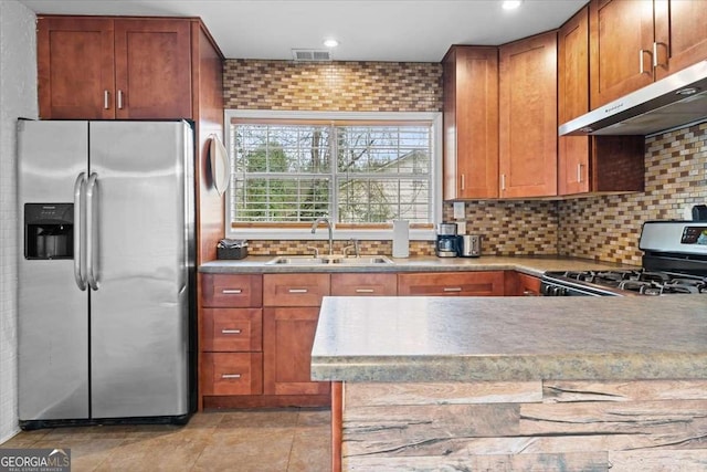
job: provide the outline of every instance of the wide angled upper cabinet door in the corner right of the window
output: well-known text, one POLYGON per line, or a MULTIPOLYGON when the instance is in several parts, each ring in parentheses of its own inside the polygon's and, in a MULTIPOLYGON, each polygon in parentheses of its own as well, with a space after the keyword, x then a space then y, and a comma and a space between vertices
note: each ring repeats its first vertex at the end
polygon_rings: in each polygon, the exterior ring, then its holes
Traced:
POLYGON ((557 195, 557 33, 500 46, 500 197, 557 195))

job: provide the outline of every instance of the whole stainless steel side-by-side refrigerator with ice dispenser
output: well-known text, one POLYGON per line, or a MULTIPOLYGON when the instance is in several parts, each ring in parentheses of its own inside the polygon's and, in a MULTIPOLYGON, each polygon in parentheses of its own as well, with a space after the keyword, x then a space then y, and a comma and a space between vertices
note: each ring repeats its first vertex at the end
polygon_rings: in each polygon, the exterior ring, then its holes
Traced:
POLYGON ((186 422, 193 129, 18 122, 19 417, 186 422))

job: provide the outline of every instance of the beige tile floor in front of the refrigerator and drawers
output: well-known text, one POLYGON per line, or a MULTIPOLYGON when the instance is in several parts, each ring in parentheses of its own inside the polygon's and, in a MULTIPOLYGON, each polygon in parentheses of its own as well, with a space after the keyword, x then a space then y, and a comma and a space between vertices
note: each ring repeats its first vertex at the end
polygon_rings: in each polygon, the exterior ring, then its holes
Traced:
POLYGON ((328 409, 208 411, 184 427, 22 431, 0 448, 71 448, 72 472, 330 470, 328 409))

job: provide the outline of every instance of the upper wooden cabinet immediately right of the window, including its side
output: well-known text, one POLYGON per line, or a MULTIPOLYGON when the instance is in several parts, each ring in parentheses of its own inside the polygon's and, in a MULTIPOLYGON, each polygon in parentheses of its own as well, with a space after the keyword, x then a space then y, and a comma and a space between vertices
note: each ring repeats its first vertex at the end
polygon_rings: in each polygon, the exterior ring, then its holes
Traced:
POLYGON ((444 199, 498 197, 498 49, 444 56, 444 199))

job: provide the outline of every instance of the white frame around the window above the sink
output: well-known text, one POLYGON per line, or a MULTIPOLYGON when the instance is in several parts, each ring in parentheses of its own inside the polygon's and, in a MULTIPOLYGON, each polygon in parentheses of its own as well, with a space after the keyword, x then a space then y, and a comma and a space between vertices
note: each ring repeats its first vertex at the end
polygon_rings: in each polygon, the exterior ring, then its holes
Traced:
MULTIPOLYGON (((410 239, 413 241, 434 241, 436 232, 434 224, 442 221, 442 113, 440 112, 289 112, 289 111, 263 111, 263 109, 226 109, 224 112, 225 147, 230 150, 231 120, 241 119, 308 119, 308 120, 394 120, 394 122, 430 122, 432 124, 432 168, 431 189, 432 223, 430 229, 410 229, 410 239)), ((229 156, 230 159, 233 156, 229 156)), ((226 190, 224 204, 225 235, 233 239, 250 240, 328 240, 326 230, 317 230, 312 234, 310 229, 305 228, 232 228, 231 227, 231 189, 226 190)), ((333 221, 335 240, 389 240, 392 239, 391 229, 337 229, 333 221)))

